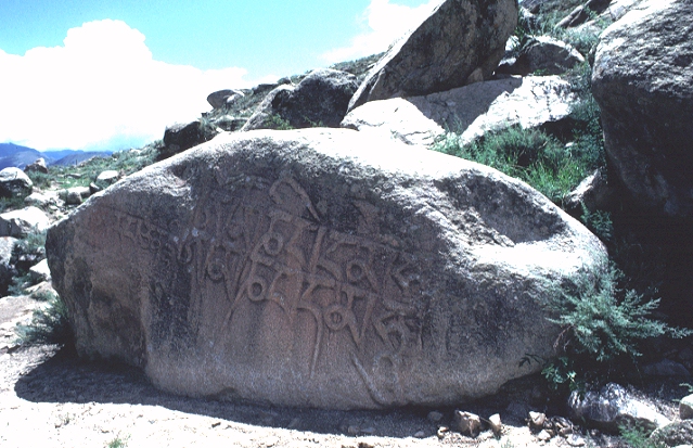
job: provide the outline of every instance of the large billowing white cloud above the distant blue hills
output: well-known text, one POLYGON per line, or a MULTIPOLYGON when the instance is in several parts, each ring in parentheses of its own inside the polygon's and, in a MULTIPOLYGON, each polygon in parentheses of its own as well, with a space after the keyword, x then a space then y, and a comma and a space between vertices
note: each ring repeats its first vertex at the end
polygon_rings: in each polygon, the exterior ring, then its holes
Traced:
POLYGON ((0 142, 37 150, 139 146, 208 111, 213 91, 252 86, 244 68, 155 61, 144 35, 111 20, 69 29, 62 47, 0 50, 0 142))

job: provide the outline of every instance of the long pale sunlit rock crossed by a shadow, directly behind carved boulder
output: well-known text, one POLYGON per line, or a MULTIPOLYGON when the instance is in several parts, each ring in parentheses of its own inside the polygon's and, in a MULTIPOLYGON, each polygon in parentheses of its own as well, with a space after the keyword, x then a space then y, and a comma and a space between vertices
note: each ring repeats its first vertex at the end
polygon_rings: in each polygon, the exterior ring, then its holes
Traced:
POLYGON ((426 97, 373 101, 351 111, 342 126, 424 145, 451 129, 469 143, 490 130, 564 119, 574 101, 570 86, 557 76, 509 77, 426 97))

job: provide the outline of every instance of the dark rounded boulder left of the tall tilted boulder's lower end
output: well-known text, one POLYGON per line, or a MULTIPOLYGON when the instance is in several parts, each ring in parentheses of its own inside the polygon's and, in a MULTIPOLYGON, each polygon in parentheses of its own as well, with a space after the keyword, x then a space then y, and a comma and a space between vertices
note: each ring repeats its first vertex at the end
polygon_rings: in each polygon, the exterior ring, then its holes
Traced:
POLYGON ((277 129, 281 124, 296 129, 339 127, 357 88, 349 73, 313 71, 298 86, 283 85, 268 93, 242 130, 277 129))

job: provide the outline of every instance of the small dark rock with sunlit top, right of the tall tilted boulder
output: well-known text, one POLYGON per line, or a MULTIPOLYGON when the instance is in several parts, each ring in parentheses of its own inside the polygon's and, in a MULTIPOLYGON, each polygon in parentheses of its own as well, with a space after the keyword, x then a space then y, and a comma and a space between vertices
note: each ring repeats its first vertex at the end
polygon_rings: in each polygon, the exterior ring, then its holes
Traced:
POLYGON ((499 72, 523 76, 560 75, 583 62, 585 57, 572 46, 549 36, 537 36, 521 51, 514 64, 499 72))

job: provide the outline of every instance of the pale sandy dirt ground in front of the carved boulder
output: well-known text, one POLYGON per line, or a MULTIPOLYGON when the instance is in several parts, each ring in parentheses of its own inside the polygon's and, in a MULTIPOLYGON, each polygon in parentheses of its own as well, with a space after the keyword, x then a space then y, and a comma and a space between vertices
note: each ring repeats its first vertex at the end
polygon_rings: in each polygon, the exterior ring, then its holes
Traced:
MULTIPOLYGON (((178 397, 155 389, 137 369, 85 361, 55 346, 18 347, 14 325, 41 306, 0 299, 0 447, 617 447, 614 437, 580 427, 542 441, 525 419, 537 394, 529 379, 460 410, 500 413, 500 436, 476 438, 449 426, 454 409, 324 411, 178 397)), ((662 388, 654 395, 662 395, 662 388)), ((653 398, 675 417, 673 402, 653 398)), ((550 417, 550 412, 547 411, 550 417)))

